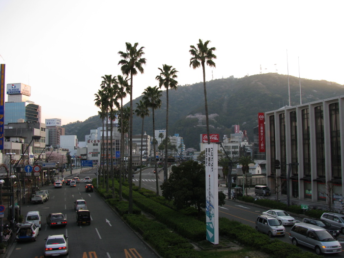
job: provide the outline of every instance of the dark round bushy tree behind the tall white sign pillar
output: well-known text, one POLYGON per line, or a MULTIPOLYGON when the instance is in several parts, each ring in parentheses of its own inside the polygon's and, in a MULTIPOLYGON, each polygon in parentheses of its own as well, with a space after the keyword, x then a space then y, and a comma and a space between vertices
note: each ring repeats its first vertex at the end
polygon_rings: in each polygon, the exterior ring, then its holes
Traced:
MULTIPOLYGON (((205 168, 197 161, 186 161, 178 167, 173 166, 170 177, 161 185, 162 195, 172 200, 178 210, 193 205, 197 206, 201 217, 205 208, 205 168)), ((226 196, 219 194, 219 204, 224 203, 226 196)))

